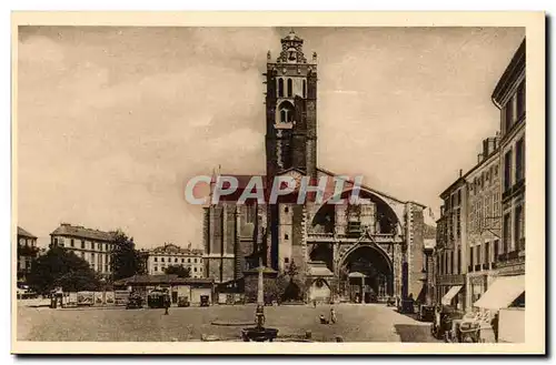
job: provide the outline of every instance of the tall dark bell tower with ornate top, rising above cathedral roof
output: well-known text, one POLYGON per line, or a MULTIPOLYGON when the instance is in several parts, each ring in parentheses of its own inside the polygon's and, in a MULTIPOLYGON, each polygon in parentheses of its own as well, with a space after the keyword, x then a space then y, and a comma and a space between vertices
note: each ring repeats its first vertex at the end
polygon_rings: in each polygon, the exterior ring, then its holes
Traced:
POLYGON ((267 178, 295 168, 316 178, 317 53, 308 62, 304 40, 292 30, 281 39, 281 52, 267 54, 267 178))

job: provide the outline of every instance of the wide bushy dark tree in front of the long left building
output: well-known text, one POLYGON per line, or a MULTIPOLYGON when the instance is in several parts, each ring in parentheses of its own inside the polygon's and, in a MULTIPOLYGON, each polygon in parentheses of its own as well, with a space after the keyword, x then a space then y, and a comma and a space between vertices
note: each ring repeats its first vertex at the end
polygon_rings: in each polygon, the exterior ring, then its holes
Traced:
POLYGON ((59 286, 68 292, 95 291, 100 280, 87 261, 62 247, 52 247, 31 265, 28 284, 46 294, 59 286))

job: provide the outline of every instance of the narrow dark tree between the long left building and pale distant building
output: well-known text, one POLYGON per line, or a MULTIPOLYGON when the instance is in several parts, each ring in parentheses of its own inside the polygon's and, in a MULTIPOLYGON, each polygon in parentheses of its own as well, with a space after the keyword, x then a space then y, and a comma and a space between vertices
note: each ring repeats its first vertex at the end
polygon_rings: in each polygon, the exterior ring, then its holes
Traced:
POLYGON ((139 251, 136 250, 133 237, 128 237, 122 231, 117 231, 112 251, 113 280, 131 277, 145 273, 139 251))

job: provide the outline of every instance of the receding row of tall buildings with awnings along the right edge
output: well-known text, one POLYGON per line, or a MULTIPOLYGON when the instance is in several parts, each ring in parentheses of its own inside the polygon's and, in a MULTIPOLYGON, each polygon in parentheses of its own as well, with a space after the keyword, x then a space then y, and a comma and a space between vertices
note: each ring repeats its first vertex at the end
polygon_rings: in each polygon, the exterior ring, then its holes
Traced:
MULTIPOLYGON (((523 277, 513 280, 514 284, 499 278, 525 274, 525 40, 492 100, 500 110, 499 133, 483 141, 477 164, 465 175, 460 171, 440 194, 437 301, 461 310, 477 303, 488 308, 508 306, 493 304, 493 297, 508 290, 519 292, 524 283, 523 277)), ((516 301, 524 302, 525 292, 516 301)))

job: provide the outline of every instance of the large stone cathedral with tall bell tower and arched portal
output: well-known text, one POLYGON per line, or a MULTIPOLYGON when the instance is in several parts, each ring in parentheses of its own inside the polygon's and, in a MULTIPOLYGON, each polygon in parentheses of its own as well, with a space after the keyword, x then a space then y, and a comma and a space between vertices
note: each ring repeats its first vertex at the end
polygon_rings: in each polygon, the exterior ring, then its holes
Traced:
MULTIPOLYGON (((266 186, 276 176, 337 178, 317 164, 317 54, 294 31, 267 55, 266 186)), ((239 178, 245 186, 249 175, 239 178)), ((341 195, 354 184, 346 181, 341 195)), ((205 273, 222 291, 256 296, 265 281, 296 267, 305 301, 369 303, 426 295, 424 245, 434 237, 425 205, 363 185, 366 204, 281 199, 277 204, 220 202, 203 209, 205 273)))

